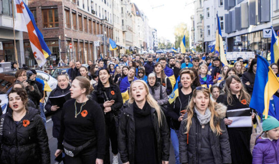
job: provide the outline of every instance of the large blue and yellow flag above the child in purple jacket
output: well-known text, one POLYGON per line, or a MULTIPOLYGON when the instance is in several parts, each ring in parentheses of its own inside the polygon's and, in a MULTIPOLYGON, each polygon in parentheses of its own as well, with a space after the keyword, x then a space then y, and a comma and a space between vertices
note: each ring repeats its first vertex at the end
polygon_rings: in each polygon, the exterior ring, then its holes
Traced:
POLYGON ((262 56, 257 59, 257 72, 250 107, 268 117, 270 98, 279 89, 279 80, 262 56))

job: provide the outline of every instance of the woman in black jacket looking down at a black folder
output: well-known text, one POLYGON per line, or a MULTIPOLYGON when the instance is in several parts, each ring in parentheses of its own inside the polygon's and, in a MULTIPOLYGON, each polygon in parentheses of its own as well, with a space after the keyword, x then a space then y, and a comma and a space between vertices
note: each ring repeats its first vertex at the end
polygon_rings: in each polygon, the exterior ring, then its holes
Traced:
MULTIPOLYGON (((57 83, 56 88, 50 92, 48 97, 62 96, 62 95, 66 95, 67 93, 70 92, 71 85, 69 82, 69 77, 66 74, 66 72, 62 72, 57 76, 57 82, 58 83, 57 83)), ((51 102, 50 98, 48 98, 48 100, 44 106, 45 110, 47 110, 48 112, 52 112, 52 115, 51 115, 51 120, 53 121, 52 136, 54 138, 59 137, 62 107, 63 106, 54 105, 51 102)))

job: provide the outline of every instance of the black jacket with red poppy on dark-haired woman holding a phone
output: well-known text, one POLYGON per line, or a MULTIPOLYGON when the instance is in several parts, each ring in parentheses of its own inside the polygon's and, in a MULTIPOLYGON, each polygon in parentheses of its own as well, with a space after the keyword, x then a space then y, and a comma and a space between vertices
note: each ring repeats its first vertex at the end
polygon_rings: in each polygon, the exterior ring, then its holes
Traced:
MULTIPOLYGON (((120 108, 123 105, 123 99, 118 85, 110 84, 110 89, 111 93, 107 95, 107 97, 109 98, 109 100, 115 100, 115 102, 111 106, 112 111, 106 113, 105 118, 110 117, 112 120, 114 116, 119 115, 120 108), (112 91, 114 92, 114 95, 112 94, 112 91)), ((105 109, 103 104, 105 101, 107 101, 107 97, 104 90, 98 87, 98 85, 94 86, 94 90, 91 92, 91 99, 99 103, 103 111, 105 109)))

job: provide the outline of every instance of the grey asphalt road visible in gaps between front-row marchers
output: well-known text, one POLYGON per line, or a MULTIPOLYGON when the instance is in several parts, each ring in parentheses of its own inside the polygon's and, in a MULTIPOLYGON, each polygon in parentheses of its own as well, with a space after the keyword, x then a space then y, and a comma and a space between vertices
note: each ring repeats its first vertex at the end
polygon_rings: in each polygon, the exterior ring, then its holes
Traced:
MULTIPOLYGON (((55 156, 54 153, 57 149, 57 139, 52 137, 52 126, 53 122, 51 120, 51 116, 47 117, 47 123, 46 123, 46 132, 47 132, 47 137, 48 137, 48 144, 49 144, 49 149, 50 149, 50 160, 51 164, 55 164, 55 156)), ((111 160, 112 160, 112 153, 111 153, 111 160)), ((120 155, 118 154, 118 159, 119 159, 119 164, 122 164, 120 155)), ((63 164, 63 163, 60 163, 63 164)), ((94 164, 94 163, 93 163, 94 164)), ((175 164, 175 157, 174 157, 174 151, 172 145, 170 145, 170 156, 169 156, 169 164, 175 164)))

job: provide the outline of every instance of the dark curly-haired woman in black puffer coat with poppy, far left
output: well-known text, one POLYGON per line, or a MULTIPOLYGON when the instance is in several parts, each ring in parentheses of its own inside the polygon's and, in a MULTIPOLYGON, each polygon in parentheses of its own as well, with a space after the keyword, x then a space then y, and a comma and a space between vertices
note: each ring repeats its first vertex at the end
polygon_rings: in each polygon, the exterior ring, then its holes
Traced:
POLYGON ((32 107, 27 92, 13 88, 8 94, 9 109, 0 118, 1 164, 50 164, 45 126, 32 107))

